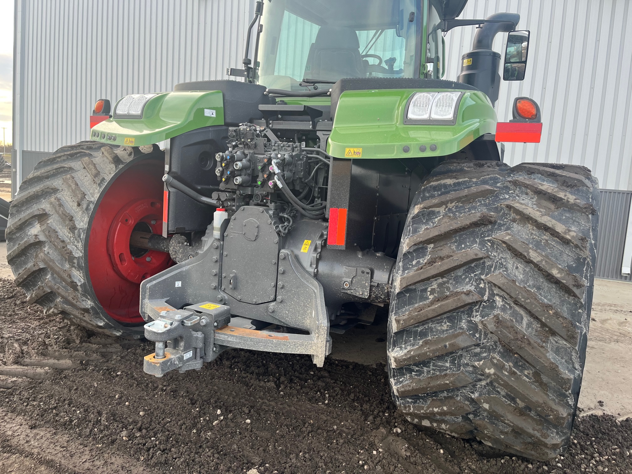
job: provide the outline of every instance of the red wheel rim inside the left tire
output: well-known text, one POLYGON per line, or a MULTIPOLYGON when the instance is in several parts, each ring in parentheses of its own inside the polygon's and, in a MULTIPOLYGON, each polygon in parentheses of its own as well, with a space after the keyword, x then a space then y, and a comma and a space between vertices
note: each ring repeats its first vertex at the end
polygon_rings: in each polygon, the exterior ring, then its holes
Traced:
POLYGON ((118 322, 142 323, 140 283, 173 265, 169 254, 135 250, 133 229, 162 233, 162 163, 139 162, 123 171, 102 198, 89 229, 88 272, 97 300, 118 322), (140 255, 140 257, 139 257, 140 255))

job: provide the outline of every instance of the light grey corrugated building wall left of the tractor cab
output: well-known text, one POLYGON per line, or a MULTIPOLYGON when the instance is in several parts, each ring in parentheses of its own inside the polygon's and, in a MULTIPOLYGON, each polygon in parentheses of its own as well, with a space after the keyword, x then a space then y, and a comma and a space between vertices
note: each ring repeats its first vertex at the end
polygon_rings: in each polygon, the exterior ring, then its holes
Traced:
POLYGON ((224 79, 255 0, 15 0, 15 181, 88 138, 95 100, 224 79))

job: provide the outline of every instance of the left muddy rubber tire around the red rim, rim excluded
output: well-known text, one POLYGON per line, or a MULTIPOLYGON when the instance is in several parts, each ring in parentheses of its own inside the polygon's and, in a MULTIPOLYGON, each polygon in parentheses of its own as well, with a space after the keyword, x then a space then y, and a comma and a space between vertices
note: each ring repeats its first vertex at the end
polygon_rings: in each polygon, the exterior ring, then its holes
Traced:
POLYGON ((157 145, 80 142, 40 161, 21 183, 9 210, 7 260, 29 304, 101 334, 143 334, 142 325, 119 324, 97 300, 88 274, 87 229, 109 185, 145 159, 164 161, 164 152, 157 145))

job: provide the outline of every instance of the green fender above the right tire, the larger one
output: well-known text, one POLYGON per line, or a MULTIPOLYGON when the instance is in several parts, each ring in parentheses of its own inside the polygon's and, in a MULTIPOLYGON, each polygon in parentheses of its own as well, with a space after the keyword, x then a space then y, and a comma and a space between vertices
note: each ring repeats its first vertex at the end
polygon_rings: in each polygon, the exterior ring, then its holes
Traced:
MULTIPOLYGON (((465 90, 455 125, 404 125, 415 92, 440 89, 348 90, 338 102, 327 152, 337 158, 406 158, 449 155, 485 133, 495 133, 487 95, 465 90), (425 145, 425 152, 420 151, 425 145), (431 145, 437 149, 430 150, 431 145), (404 152, 408 147, 408 152, 404 152)), ((452 90, 451 90, 452 92, 452 90)), ((433 147, 434 148, 434 147, 433 147)))

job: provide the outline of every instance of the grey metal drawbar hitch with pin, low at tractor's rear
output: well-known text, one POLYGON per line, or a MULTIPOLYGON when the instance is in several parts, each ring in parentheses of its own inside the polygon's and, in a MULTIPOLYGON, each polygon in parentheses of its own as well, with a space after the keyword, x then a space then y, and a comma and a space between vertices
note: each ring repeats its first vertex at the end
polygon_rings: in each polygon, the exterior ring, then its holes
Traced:
POLYGON ((200 369, 219 355, 215 330, 231 320, 231 308, 200 303, 176 310, 164 301, 147 301, 154 320, 145 324, 145 337, 155 343, 155 352, 145 356, 147 374, 162 377, 171 370, 200 369))

